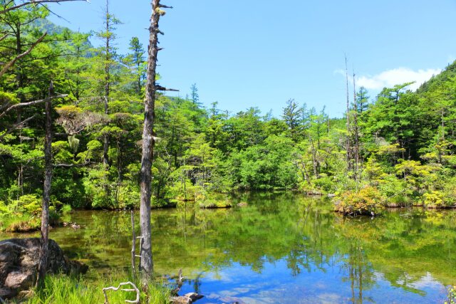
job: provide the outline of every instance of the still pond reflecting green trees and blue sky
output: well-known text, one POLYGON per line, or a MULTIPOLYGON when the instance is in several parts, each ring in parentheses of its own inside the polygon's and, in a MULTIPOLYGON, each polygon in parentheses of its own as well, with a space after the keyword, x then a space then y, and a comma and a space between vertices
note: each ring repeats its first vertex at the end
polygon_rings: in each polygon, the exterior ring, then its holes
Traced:
MULTIPOLYGON (((343 218, 298 194, 240 194, 232 209, 152 211, 155 272, 197 303, 442 303, 456 283, 456 212, 394 209, 343 218)), ((138 214, 136 214, 138 227, 138 214)), ((128 271, 129 212, 75 211, 51 231, 71 258, 128 271)), ((6 239, 11 235, 0 235, 6 239)))

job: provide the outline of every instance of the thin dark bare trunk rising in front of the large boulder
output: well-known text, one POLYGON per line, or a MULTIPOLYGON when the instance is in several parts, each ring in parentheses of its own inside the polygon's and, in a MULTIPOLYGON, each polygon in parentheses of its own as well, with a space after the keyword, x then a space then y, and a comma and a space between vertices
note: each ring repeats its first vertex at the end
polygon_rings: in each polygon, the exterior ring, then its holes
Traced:
MULTIPOLYGON (((53 83, 49 85, 49 96, 53 95, 53 83)), ((43 206, 41 212, 41 248, 38 262, 37 285, 43 285, 46 277, 46 267, 48 264, 48 239, 49 239, 49 201, 51 199, 51 180, 52 180, 52 119, 51 119, 51 99, 46 100, 46 136, 44 137, 44 186, 43 186, 43 206)))

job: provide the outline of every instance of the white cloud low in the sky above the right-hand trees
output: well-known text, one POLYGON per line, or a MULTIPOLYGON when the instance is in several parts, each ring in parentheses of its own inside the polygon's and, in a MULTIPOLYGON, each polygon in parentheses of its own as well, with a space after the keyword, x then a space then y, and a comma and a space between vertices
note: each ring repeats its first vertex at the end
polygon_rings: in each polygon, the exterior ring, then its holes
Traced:
POLYGON ((427 70, 393 68, 377 75, 360 76, 356 82, 358 86, 363 86, 368 90, 381 90, 385 87, 392 88, 394 85, 415 81, 409 88, 410 90, 416 90, 422 83, 429 80, 432 75, 437 75, 441 71, 440 69, 433 68, 428 68, 427 70))

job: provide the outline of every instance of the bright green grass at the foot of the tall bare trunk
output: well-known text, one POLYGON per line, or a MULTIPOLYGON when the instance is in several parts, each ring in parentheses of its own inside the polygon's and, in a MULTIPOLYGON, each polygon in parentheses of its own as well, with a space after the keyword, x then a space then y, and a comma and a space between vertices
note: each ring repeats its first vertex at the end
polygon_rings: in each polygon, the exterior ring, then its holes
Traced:
MULTIPOLYGON (((33 290, 30 298, 25 303, 28 304, 92 304, 105 303, 103 288, 114 286, 119 283, 133 281, 128 277, 98 276, 95 278, 74 278, 68 276, 47 276, 44 288, 33 290)), ((133 281, 140 288, 138 281, 133 281)), ((124 288, 131 288, 123 286, 124 288)), ((169 303, 170 290, 163 287, 162 283, 150 283, 147 293, 141 290, 140 303, 165 304, 169 303)), ((125 292, 122 290, 107 290, 110 304, 125 303, 125 300, 135 300, 135 292, 125 292)))

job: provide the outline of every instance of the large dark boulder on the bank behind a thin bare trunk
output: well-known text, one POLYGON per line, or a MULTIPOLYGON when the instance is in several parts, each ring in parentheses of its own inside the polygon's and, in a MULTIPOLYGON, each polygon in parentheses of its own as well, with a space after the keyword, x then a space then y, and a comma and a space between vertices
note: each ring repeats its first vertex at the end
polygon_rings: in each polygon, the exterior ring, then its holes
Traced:
MULTIPOLYGON (((9 239, 0 241, 0 297, 11 298, 27 290, 36 281, 41 240, 9 239)), ((69 261, 56 241, 49 240, 48 273, 86 273, 88 266, 69 261)))

